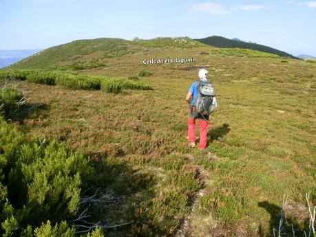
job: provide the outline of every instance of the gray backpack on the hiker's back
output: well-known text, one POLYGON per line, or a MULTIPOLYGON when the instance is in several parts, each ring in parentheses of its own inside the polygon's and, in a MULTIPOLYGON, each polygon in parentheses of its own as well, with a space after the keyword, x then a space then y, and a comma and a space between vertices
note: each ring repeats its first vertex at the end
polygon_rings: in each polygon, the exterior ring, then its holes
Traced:
POLYGON ((198 98, 196 98, 196 110, 198 113, 202 115, 212 113, 215 109, 214 97, 215 90, 211 82, 198 82, 198 98))

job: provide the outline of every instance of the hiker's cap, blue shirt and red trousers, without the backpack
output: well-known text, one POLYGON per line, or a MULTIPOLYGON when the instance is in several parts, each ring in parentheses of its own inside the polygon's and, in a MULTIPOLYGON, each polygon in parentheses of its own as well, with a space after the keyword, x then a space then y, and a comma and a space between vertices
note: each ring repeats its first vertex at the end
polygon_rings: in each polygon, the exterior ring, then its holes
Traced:
MULTIPOLYGON (((207 80, 208 71, 200 69, 198 77, 202 82, 209 82, 207 80)), ((190 104, 189 120, 188 120, 188 138, 189 146, 196 147, 196 119, 198 118, 198 126, 200 128, 200 143, 198 148, 204 150, 207 147, 207 128, 209 127, 209 114, 202 115, 196 109, 196 99, 198 98, 199 82, 193 82, 187 93, 186 100, 190 104)))

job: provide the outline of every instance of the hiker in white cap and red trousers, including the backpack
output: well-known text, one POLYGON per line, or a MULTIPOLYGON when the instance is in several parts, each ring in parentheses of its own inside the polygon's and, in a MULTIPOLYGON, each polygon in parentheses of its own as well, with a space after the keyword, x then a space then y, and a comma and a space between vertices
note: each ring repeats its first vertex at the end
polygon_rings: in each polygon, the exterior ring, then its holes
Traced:
POLYGON ((191 84, 186 98, 187 102, 190 104, 188 121, 189 146, 196 147, 196 118, 198 118, 198 125, 200 128, 200 143, 198 145, 198 148, 200 150, 204 150, 207 147, 207 128, 209 127, 209 113, 211 113, 217 106, 215 93, 213 91, 211 83, 207 80, 207 74, 207 70, 200 69, 200 71, 198 72, 198 77, 200 78, 200 80, 191 84), (203 85, 205 87, 204 89, 207 89, 207 91, 199 97, 198 95, 202 91, 203 85), (211 93, 209 93, 209 91, 211 91, 211 93))

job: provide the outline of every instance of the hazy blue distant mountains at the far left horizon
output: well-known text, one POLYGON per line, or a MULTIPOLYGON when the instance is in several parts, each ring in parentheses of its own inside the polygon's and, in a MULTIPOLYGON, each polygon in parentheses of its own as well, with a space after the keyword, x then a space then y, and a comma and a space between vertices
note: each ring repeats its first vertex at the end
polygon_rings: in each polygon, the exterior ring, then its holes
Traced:
POLYGON ((17 63, 40 51, 41 49, 0 50, 0 68, 17 63))

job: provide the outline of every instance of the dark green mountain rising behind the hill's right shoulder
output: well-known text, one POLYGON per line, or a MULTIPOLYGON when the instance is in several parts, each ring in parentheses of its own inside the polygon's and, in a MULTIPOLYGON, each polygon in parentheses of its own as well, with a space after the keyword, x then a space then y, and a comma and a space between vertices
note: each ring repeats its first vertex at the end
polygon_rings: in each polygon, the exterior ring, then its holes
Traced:
POLYGON ((199 41, 200 43, 204 43, 205 45, 211 45, 214 47, 226 47, 226 48, 242 48, 242 49, 253 49, 253 50, 257 50, 257 51, 261 51, 261 52, 265 52, 265 53, 270 53, 270 54, 277 54, 279 56, 287 56, 287 57, 291 57, 294 59, 300 59, 297 58, 291 54, 288 54, 286 52, 277 50, 277 49, 273 49, 272 47, 268 47, 265 45, 259 45, 256 43, 246 43, 244 41, 236 41, 236 40, 231 40, 229 38, 224 38, 222 36, 210 36, 207 38, 196 38, 196 41, 199 41))

